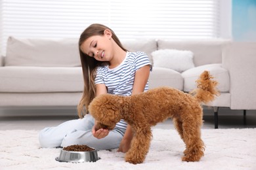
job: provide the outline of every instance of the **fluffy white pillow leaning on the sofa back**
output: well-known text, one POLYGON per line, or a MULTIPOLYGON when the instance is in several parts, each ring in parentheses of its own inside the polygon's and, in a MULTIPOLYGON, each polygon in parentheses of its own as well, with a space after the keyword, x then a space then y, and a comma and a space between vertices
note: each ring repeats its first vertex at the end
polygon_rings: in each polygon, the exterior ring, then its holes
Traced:
POLYGON ((154 67, 165 67, 179 72, 195 67, 194 54, 188 50, 156 50, 151 55, 154 67))

